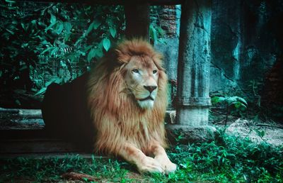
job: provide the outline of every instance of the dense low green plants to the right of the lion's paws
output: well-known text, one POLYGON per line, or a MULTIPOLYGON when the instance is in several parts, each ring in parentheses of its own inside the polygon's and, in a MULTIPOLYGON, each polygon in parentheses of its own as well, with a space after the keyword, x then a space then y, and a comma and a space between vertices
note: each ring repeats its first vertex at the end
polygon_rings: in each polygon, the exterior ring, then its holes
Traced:
POLYGON ((171 156, 180 165, 180 172, 187 177, 202 172, 201 180, 281 182, 283 178, 282 147, 226 135, 224 128, 211 143, 178 145, 171 156))

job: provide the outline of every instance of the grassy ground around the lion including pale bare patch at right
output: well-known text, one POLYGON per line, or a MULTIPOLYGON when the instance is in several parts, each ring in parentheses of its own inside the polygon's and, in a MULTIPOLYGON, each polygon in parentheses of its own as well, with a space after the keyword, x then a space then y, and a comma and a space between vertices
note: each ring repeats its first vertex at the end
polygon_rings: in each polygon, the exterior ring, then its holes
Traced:
MULTIPOLYGON (((229 116, 226 127, 220 118, 211 123, 217 128, 214 140, 168 148, 169 157, 178 164, 169 175, 139 174, 134 165, 115 157, 64 154, 0 158, 0 182, 282 182, 282 126, 235 116, 229 116), (70 172, 82 177, 64 176, 70 172)), ((18 121, 20 127, 34 128, 18 121)))

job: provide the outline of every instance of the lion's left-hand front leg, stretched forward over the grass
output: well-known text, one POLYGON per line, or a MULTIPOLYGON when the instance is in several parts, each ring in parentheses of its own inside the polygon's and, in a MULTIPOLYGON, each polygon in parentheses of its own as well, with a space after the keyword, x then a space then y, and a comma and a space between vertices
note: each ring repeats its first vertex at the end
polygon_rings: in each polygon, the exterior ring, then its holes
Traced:
POLYGON ((164 173, 162 165, 154 160, 152 157, 144 155, 138 148, 129 143, 125 144, 125 147, 120 150, 119 155, 128 162, 132 162, 137 165, 137 170, 140 173, 144 172, 161 172, 164 173))

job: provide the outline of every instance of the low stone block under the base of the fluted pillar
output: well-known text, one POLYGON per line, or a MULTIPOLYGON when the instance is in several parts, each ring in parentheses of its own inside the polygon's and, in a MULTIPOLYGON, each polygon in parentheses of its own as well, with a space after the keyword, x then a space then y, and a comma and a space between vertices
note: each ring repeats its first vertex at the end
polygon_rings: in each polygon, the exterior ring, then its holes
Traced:
POLYGON ((213 126, 185 126, 170 124, 166 126, 166 133, 171 144, 203 143, 214 140, 216 128, 213 126))

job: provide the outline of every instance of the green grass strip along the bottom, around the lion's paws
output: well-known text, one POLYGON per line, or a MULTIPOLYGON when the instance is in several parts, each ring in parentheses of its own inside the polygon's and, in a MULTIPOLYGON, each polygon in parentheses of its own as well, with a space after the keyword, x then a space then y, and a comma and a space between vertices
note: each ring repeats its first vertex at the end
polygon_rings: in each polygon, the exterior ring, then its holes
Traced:
POLYGON ((98 182, 282 182, 283 147, 255 144, 218 131, 214 141, 175 145, 168 150, 178 170, 169 175, 137 173, 115 158, 76 156, 51 159, 18 157, 0 161, 0 182, 59 182, 65 172, 82 172, 98 182))

